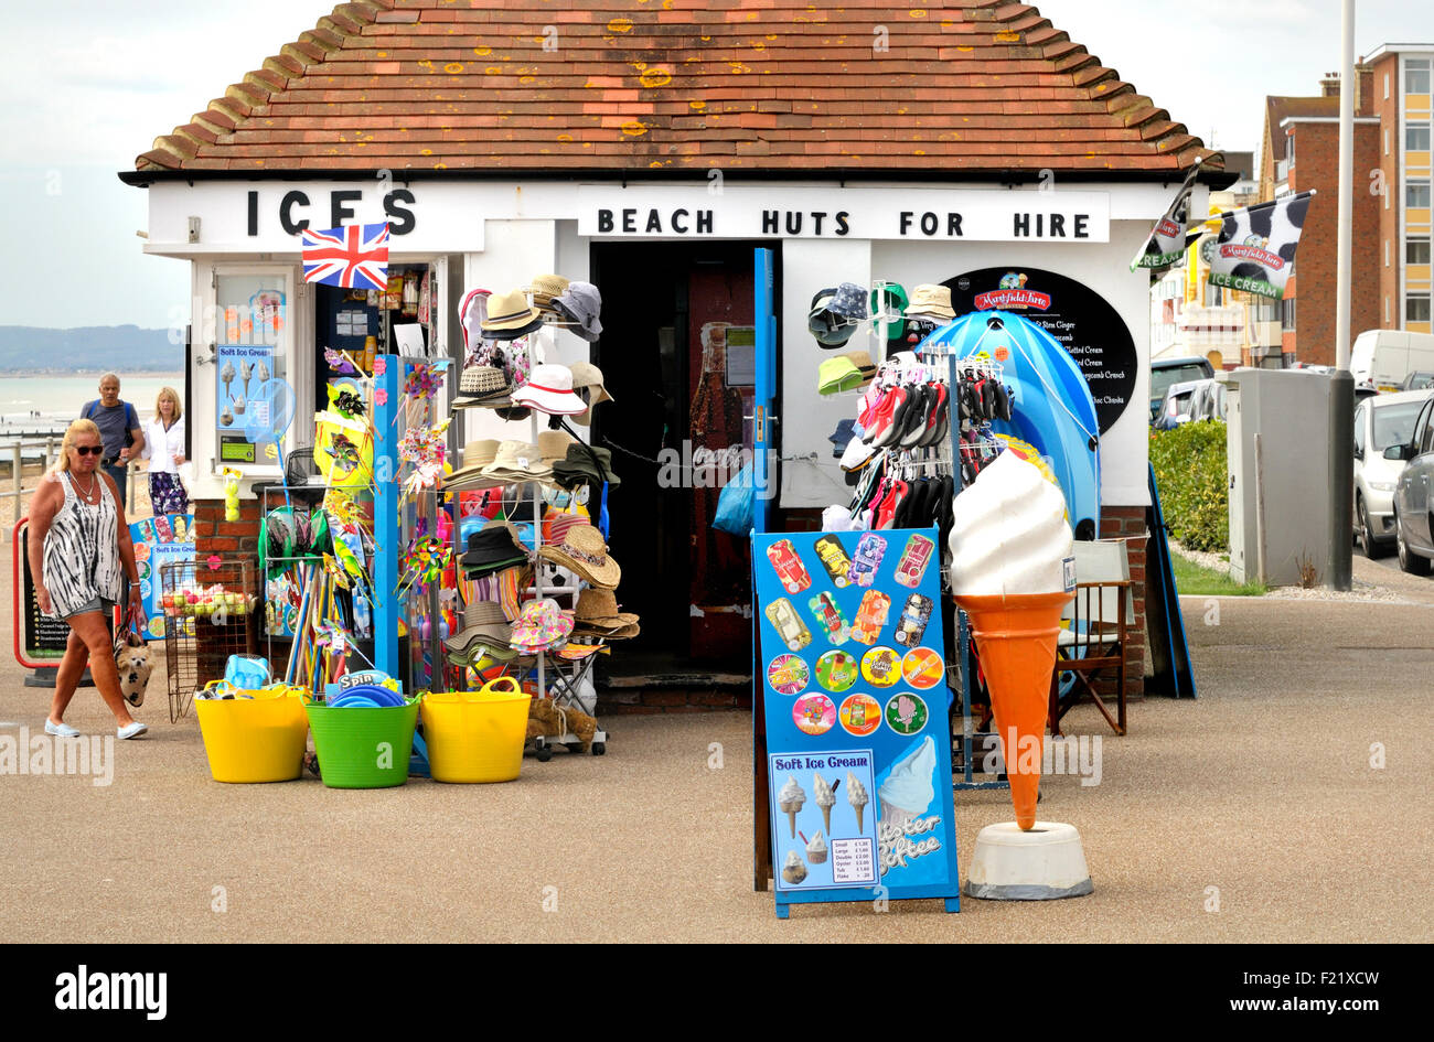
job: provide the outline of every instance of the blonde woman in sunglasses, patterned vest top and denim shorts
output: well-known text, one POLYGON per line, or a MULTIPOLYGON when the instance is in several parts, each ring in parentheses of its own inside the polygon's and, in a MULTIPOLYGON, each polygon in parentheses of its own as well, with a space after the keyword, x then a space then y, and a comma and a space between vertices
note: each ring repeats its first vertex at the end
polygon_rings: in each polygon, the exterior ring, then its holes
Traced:
POLYGON ((70 626, 44 721, 46 734, 65 738, 79 734, 65 722, 65 709, 86 661, 100 698, 115 714, 118 735, 136 738, 148 730, 129 715, 106 626, 122 596, 123 576, 129 578, 129 602, 136 609, 141 592, 125 507, 115 480, 100 467, 103 451, 99 427, 90 420, 76 420, 65 431, 56 470, 46 474, 30 500, 29 552, 36 602, 42 612, 70 626))

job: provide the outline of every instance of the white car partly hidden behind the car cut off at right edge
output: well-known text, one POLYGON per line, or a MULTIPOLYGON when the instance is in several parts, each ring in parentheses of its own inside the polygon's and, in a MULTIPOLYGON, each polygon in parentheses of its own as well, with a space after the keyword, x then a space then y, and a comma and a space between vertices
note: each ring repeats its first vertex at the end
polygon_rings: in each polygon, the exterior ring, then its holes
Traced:
POLYGON ((1394 545, 1394 489, 1404 460, 1384 457, 1408 444, 1428 391, 1380 394, 1354 410, 1354 535, 1365 556, 1380 558, 1394 545))

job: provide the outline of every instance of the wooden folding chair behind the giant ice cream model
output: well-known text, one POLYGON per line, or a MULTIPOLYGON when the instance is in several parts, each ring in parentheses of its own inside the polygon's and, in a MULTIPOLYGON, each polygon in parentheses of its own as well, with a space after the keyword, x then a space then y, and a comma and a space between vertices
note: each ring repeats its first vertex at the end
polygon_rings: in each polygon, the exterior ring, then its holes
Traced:
MULTIPOLYGON (((1124 539, 1076 542, 1076 598, 1067 606, 1055 641, 1055 672, 1051 677, 1050 728, 1061 734, 1061 718, 1071 707, 1090 698, 1116 734, 1126 732, 1126 639, 1134 623, 1130 598, 1130 565, 1124 539), (1114 672, 1116 715, 1097 688, 1101 674, 1114 672), (1061 695, 1061 675, 1074 684, 1061 695)), ((1108 695, 1107 695, 1108 697, 1108 695)))

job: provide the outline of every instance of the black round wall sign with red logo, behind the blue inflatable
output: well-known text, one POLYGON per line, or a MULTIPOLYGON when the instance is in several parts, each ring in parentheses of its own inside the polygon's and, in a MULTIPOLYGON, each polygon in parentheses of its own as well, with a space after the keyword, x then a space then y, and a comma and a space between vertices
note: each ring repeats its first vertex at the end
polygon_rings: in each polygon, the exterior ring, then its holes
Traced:
POLYGON ((1104 434, 1126 411, 1136 387, 1136 341, 1104 297, 1054 271, 981 268, 948 278, 956 315, 1010 311, 1040 325, 1080 364, 1104 434))

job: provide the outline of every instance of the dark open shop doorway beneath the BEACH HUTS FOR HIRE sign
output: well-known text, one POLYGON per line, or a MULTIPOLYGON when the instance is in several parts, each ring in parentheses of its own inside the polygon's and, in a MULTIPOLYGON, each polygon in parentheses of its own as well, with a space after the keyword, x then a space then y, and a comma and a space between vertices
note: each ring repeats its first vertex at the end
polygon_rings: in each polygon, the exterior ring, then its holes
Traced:
POLYGON ((622 477, 609 499, 618 595, 642 616, 614 671, 750 674, 750 552, 711 522, 753 444, 754 245, 592 247, 594 357, 615 397, 594 439, 622 477))

